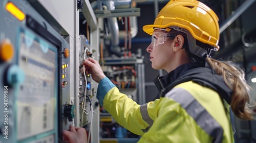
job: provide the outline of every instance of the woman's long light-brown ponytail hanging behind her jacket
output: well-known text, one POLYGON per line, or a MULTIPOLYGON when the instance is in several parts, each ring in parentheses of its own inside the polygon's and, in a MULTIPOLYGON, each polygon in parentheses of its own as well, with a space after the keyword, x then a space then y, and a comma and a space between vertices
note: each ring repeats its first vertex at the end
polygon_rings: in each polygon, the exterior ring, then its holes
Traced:
POLYGON ((253 112, 249 105, 251 102, 250 86, 246 83, 244 71, 230 62, 218 61, 208 57, 206 61, 216 74, 223 76, 225 83, 233 90, 230 104, 233 113, 241 119, 252 120, 253 112))

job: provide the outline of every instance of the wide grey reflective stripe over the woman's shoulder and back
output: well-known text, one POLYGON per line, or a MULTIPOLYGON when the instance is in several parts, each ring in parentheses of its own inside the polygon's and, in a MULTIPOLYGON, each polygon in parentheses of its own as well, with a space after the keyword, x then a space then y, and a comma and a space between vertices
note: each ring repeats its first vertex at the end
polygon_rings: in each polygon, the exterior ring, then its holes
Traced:
POLYGON ((213 137, 212 142, 222 142, 222 127, 188 91, 183 88, 173 88, 165 94, 165 97, 178 102, 194 118, 197 125, 213 137))

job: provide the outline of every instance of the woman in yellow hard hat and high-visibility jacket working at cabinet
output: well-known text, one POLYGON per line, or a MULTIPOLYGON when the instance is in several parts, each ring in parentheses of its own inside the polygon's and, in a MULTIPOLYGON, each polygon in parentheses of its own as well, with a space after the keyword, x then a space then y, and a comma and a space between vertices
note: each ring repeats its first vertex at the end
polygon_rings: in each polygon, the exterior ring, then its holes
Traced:
POLYGON ((233 142, 229 105, 238 117, 252 119, 244 72, 210 58, 219 50, 216 14, 193 0, 172 0, 143 30, 154 69, 168 74, 154 82, 161 98, 138 105, 103 74, 92 58, 84 61, 99 83, 97 99, 117 121, 142 135, 139 142, 233 142))

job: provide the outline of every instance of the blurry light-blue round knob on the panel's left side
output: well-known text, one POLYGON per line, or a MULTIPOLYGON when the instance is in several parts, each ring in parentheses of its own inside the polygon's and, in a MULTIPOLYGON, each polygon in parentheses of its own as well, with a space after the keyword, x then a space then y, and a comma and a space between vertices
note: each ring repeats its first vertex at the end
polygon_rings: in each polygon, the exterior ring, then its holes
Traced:
POLYGON ((25 80, 25 74, 23 69, 17 65, 10 65, 5 73, 5 81, 9 86, 15 86, 22 84, 25 80))

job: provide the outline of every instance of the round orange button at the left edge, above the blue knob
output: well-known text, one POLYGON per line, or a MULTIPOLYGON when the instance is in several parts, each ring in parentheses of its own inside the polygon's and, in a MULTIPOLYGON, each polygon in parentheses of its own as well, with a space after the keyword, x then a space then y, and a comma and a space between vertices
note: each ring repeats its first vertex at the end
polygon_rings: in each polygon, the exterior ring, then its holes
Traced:
POLYGON ((3 61, 11 60, 14 54, 12 43, 9 39, 0 43, 0 59, 3 61))

